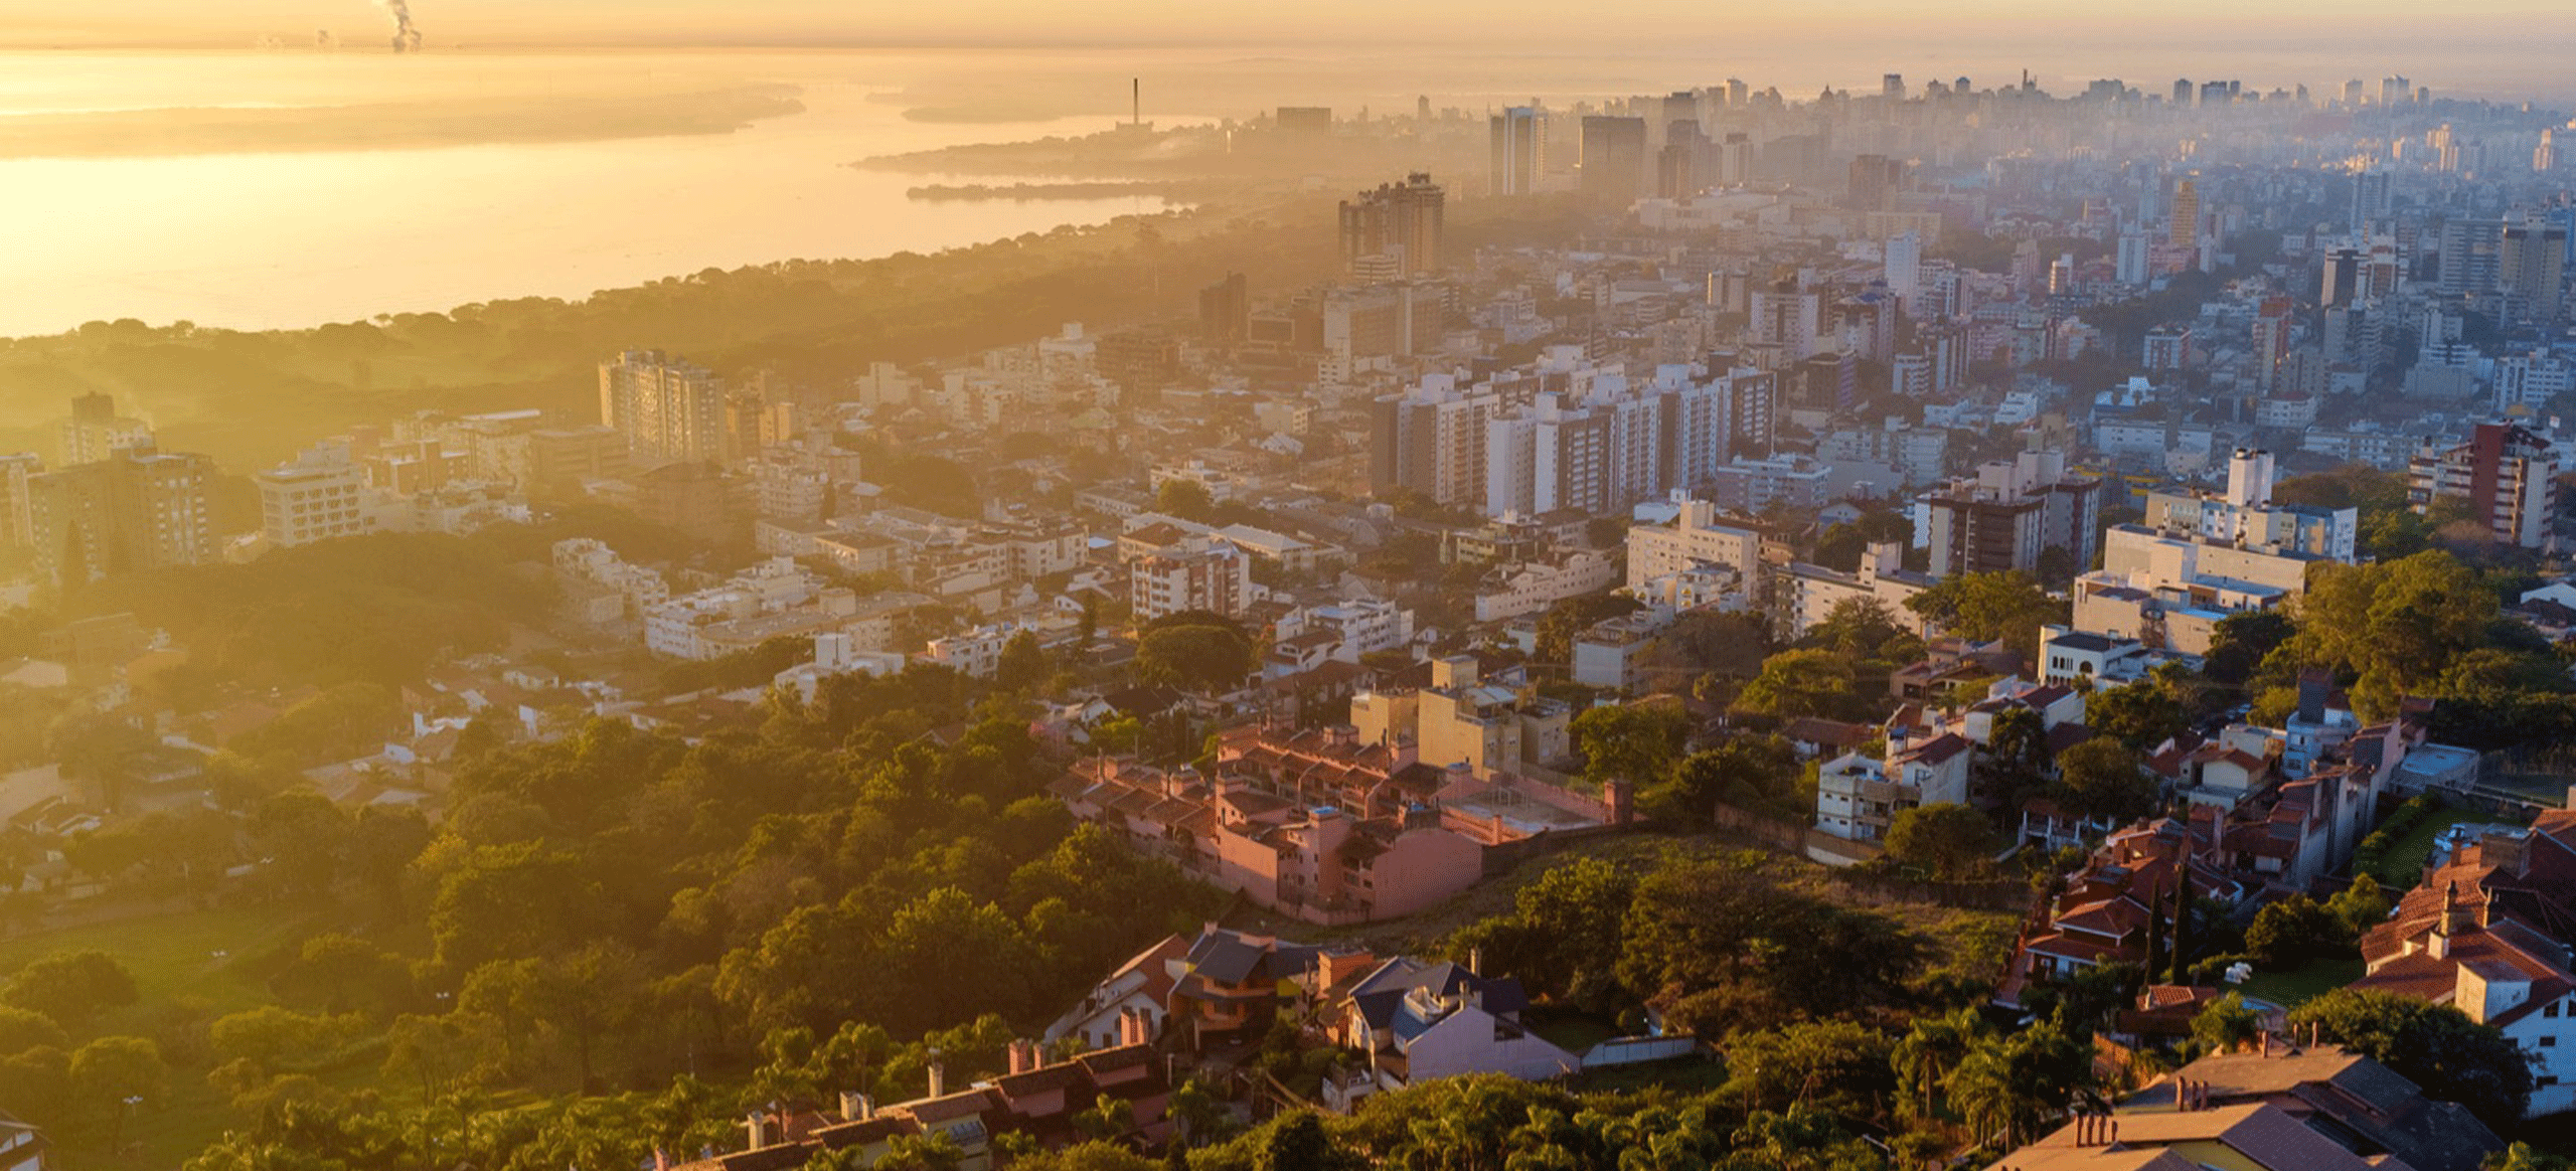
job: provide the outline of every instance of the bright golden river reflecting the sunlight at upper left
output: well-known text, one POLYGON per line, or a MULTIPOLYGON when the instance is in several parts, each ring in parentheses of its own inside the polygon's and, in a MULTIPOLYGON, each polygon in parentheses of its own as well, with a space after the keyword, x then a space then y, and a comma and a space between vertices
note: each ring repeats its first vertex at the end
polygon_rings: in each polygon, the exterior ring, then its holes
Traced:
POLYGON ((1159 198, 940 201, 850 167, 1110 118, 935 124, 871 100, 902 54, 0 54, 0 118, 325 108, 440 95, 786 82, 806 113, 734 134, 417 149, 0 160, 0 337, 93 319, 307 327, 703 268, 940 250, 1159 211, 1159 198))

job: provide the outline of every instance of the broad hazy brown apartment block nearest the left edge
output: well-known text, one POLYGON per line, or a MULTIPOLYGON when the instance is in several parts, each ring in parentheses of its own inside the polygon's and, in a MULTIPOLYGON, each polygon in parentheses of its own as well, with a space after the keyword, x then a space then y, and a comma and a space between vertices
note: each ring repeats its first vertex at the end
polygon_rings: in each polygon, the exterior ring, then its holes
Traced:
POLYGON ((214 561, 211 479, 214 461, 206 456, 152 445, 28 476, 28 538, 39 574, 54 584, 85 584, 214 561))

